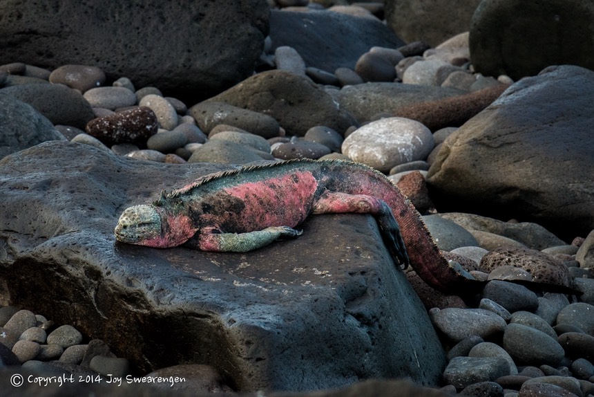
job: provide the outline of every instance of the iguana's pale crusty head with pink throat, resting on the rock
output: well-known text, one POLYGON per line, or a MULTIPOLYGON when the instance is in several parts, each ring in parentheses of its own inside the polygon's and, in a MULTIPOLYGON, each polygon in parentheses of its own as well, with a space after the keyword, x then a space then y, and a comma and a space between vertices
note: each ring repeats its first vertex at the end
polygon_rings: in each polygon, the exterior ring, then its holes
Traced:
POLYGON ((155 205, 134 205, 119 216, 114 232, 122 243, 169 248, 186 242, 195 229, 187 216, 168 214, 155 205))

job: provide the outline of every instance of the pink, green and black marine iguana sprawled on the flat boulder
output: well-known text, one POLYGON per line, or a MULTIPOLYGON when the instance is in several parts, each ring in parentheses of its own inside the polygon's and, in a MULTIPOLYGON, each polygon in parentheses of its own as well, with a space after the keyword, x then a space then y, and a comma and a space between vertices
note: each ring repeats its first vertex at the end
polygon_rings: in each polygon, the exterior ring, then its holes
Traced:
POLYGON ((374 215, 396 263, 410 264, 433 288, 452 291, 473 279, 441 255, 419 212, 392 181, 345 160, 289 160, 203 176, 162 192, 152 205, 128 207, 115 237, 155 248, 247 252, 298 237, 294 228, 310 214, 346 212, 374 215))

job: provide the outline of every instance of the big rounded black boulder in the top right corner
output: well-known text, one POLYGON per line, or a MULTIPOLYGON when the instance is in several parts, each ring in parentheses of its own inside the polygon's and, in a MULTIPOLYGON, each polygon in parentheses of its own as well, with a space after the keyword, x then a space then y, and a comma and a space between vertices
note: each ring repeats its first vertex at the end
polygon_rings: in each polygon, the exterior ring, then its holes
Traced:
POLYGON ((550 65, 594 70, 591 0, 483 0, 470 26, 470 57, 477 72, 537 75, 550 65))

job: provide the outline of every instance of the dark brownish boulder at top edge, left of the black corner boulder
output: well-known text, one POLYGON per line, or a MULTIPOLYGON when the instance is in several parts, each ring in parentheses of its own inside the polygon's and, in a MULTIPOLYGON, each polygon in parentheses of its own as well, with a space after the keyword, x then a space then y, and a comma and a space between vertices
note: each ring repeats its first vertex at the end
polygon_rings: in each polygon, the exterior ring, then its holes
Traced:
POLYGON ((386 0, 385 20, 408 43, 431 46, 468 31, 472 13, 481 0, 386 0))

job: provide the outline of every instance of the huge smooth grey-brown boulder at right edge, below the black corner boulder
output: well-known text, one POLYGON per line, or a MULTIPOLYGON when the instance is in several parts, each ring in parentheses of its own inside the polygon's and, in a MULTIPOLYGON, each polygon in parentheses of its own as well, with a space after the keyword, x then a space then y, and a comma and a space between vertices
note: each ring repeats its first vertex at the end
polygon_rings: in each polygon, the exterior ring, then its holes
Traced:
POLYGON ((452 133, 428 174, 440 212, 533 221, 565 239, 594 229, 594 72, 547 68, 452 133))

